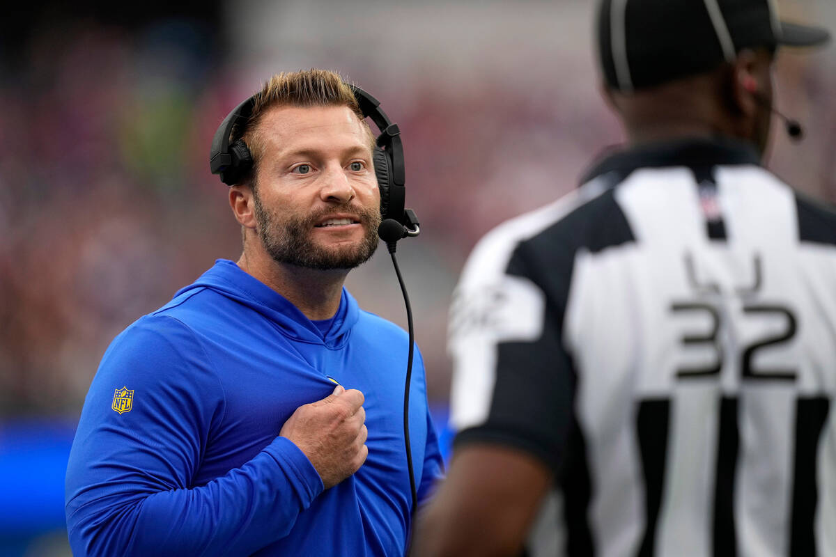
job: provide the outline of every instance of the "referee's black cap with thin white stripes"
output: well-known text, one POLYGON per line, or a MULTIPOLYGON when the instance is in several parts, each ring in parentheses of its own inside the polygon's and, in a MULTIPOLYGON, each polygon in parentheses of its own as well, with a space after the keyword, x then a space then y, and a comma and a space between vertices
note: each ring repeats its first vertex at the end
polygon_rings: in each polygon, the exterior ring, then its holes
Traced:
POLYGON ((624 92, 704 73, 742 48, 826 43, 826 29, 782 22, 774 0, 603 0, 599 60, 624 92))

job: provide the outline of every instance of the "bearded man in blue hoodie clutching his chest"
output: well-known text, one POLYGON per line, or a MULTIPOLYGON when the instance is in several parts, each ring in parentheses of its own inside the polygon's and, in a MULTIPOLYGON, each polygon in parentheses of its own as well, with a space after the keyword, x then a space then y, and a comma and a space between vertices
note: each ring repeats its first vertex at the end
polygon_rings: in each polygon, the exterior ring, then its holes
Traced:
MULTIPOLYGON (((76 555, 401 555, 405 332, 343 287, 377 246, 375 138, 335 73, 273 76, 233 142, 237 263, 111 344, 67 470, 76 555), (335 387, 335 383, 337 386, 335 387)), ((420 355, 418 500, 441 458, 420 355)))

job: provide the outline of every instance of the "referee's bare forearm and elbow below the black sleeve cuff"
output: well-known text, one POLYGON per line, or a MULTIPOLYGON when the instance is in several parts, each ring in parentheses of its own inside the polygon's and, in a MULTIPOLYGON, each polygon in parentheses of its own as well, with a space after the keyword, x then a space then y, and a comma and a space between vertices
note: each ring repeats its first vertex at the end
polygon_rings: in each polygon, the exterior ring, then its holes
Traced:
POLYGON ((528 451, 466 443, 419 515, 412 557, 517 556, 553 473, 528 451))

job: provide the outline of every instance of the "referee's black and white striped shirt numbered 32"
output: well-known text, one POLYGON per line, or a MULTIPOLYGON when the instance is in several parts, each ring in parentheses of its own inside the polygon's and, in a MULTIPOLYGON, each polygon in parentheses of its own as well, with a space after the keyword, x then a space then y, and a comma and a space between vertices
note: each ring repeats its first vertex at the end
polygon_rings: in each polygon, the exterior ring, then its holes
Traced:
POLYGON ((556 474, 530 555, 836 555, 836 213, 747 147, 613 154, 492 230, 450 335, 456 444, 556 474))

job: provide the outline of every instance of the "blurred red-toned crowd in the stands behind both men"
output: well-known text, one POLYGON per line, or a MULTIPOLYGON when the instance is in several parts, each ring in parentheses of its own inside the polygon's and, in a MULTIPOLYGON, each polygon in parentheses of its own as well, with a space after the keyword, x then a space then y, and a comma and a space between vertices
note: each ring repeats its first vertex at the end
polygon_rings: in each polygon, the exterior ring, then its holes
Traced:
MULTIPOLYGON (((587 50, 555 53, 560 71, 538 68, 543 77, 525 84, 503 73, 448 80, 443 72, 393 84, 356 55, 328 66, 381 99, 403 133, 407 205, 424 233, 400 245, 400 261, 437 401, 449 382, 446 307, 467 252, 499 221, 571 190, 594 155, 621 139, 594 94, 587 50)), ((120 330, 216 258, 237 259, 240 235, 207 154, 222 117, 259 83, 237 80, 218 52, 216 30, 189 19, 131 29, 85 20, 33 33, 14 73, 4 74, 0 418, 77 418, 120 330)), ((834 67, 832 51, 782 60, 778 102, 812 125, 801 148, 777 137, 772 160, 829 200, 834 67)), ((274 71, 283 69, 298 68, 274 71)), ((405 325, 385 253, 350 276, 349 289, 405 325)))

